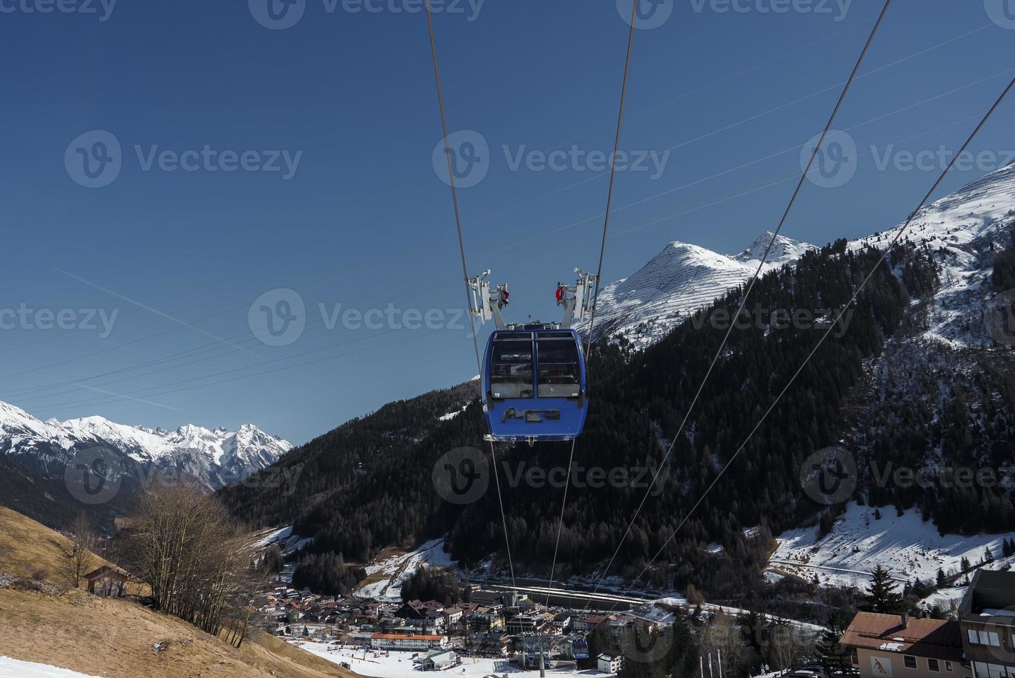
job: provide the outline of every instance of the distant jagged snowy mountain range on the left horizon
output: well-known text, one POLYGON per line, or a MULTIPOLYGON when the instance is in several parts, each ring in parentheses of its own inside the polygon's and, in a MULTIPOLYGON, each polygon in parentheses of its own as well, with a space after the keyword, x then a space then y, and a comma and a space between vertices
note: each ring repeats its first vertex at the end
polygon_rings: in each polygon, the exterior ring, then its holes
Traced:
POLYGON ((140 465, 173 469, 208 489, 239 482, 292 449, 253 424, 236 430, 187 424, 177 430, 119 424, 99 416, 43 421, 0 402, 0 455, 47 475, 59 474, 82 450, 99 448, 140 465))

